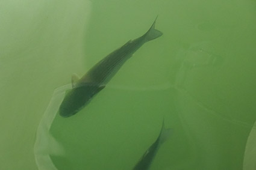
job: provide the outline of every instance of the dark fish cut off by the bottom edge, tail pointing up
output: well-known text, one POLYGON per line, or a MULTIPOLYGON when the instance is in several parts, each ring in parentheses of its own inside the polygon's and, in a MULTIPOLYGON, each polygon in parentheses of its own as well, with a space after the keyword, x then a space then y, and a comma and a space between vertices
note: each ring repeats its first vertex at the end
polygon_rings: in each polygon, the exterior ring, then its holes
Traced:
POLYGON ((163 144, 167 139, 170 138, 172 129, 166 129, 164 127, 164 121, 162 124, 161 132, 158 135, 157 140, 152 144, 148 150, 145 151, 143 156, 140 158, 139 162, 134 166, 133 170, 147 170, 150 168, 151 163, 154 160, 157 151, 160 148, 160 145, 163 144))

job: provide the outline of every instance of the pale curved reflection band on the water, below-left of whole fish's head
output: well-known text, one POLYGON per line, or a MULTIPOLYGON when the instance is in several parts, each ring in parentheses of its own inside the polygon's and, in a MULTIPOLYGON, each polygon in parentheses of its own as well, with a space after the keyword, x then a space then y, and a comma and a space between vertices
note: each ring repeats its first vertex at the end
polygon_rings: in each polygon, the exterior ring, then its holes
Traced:
POLYGON ((64 85, 54 91, 48 108, 37 128, 34 155, 39 170, 57 170, 49 155, 63 155, 65 153, 61 144, 49 133, 49 130, 58 113, 58 108, 64 99, 66 90, 70 88, 71 84, 64 85))

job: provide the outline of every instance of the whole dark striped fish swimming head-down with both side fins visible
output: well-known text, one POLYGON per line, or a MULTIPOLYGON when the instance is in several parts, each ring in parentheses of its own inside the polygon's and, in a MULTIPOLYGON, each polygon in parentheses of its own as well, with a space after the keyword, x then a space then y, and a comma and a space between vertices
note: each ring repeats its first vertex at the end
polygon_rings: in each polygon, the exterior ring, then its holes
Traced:
MULTIPOLYGON (((156 20, 156 19, 155 19, 156 20)), ((163 33, 155 29, 155 21, 146 34, 130 40, 122 47, 101 59, 83 77, 72 76, 72 89, 67 91, 60 105, 62 117, 70 117, 86 106, 99 93, 128 58, 133 56, 144 43, 158 38, 163 33)))

